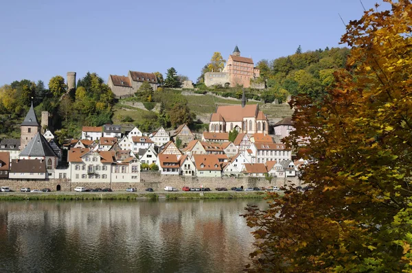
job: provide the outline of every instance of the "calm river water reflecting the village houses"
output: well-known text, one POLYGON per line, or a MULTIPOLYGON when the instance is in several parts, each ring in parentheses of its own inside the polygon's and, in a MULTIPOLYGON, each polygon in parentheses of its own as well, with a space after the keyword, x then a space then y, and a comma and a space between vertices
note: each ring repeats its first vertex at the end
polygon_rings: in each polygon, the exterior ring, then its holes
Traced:
POLYGON ((241 272, 263 200, 0 202, 0 272, 241 272))

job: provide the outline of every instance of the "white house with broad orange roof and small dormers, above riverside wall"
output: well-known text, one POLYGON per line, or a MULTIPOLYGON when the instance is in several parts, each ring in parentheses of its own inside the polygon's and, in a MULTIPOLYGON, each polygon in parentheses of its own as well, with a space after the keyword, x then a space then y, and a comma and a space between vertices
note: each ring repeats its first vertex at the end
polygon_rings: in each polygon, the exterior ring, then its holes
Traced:
POLYGON ((218 156, 214 154, 194 154, 193 159, 198 177, 222 176, 222 167, 218 156))

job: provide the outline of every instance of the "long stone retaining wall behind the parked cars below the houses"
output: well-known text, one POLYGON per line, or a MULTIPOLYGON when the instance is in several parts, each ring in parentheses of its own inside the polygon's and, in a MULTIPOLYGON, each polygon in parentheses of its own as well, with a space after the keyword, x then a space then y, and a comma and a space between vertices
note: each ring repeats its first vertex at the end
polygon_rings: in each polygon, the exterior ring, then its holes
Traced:
POLYGON ((138 191, 150 187, 155 191, 162 191, 164 187, 176 187, 181 189, 187 187, 209 187, 215 189, 216 187, 283 187, 288 185, 300 186, 303 182, 297 177, 293 178, 272 178, 271 181, 266 178, 255 177, 196 177, 196 176, 172 176, 160 175, 158 172, 142 171, 140 182, 71 182, 68 179, 50 179, 50 180, 0 180, 0 186, 10 187, 13 191, 19 191, 23 187, 30 189, 44 189, 49 188, 52 191, 73 191, 75 187, 95 188, 111 188, 113 191, 125 191, 128 187, 136 188, 138 191))

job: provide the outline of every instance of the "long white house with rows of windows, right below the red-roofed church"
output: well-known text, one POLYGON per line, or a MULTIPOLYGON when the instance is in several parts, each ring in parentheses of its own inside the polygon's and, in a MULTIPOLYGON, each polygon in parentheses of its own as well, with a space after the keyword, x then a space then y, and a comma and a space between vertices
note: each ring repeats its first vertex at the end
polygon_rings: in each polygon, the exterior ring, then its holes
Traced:
POLYGON ((291 160, 292 152, 286 150, 284 144, 279 143, 252 143, 252 163, 266 163, 266 161, 291 160))

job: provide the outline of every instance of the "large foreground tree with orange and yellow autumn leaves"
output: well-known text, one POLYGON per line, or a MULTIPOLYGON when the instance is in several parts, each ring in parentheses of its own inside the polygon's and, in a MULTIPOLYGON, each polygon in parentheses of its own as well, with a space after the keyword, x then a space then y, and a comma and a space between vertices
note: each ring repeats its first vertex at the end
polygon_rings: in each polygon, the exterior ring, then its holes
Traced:
POLYGON ((312 159, 311 187, 248 207, 247 271, 412 271, 412 4, 385 2, 347 25, 350 56, 324 102, 291 102, 286 143, 312 159))

